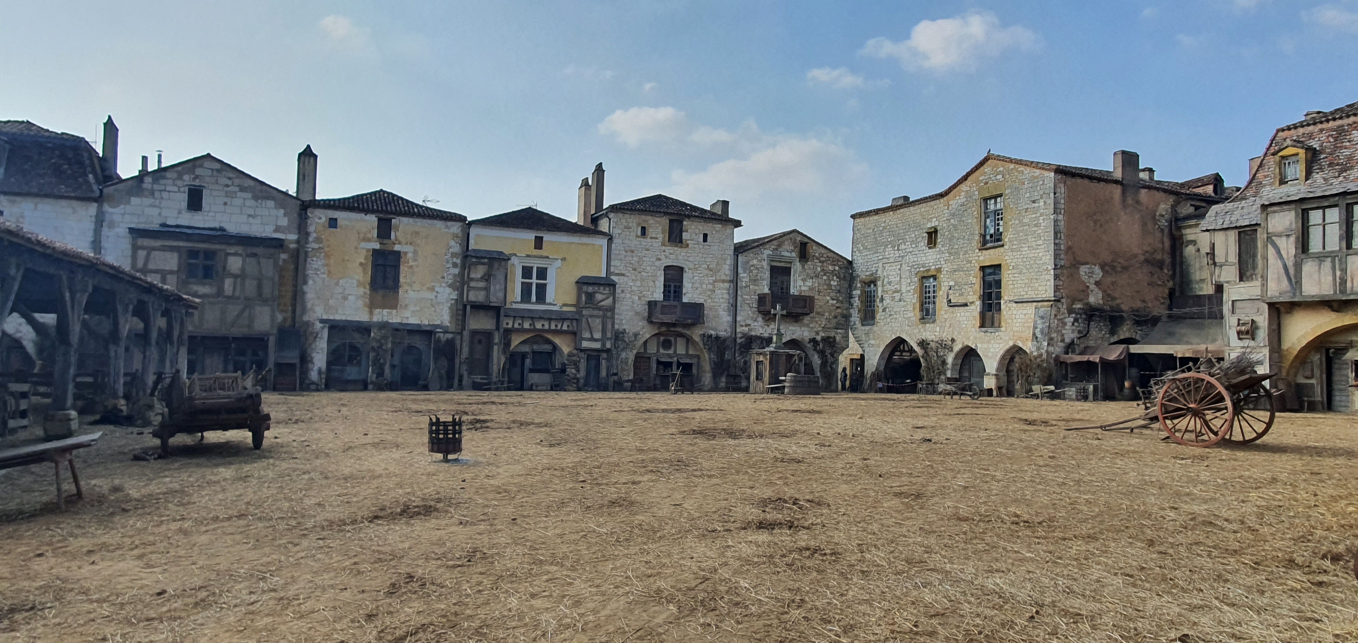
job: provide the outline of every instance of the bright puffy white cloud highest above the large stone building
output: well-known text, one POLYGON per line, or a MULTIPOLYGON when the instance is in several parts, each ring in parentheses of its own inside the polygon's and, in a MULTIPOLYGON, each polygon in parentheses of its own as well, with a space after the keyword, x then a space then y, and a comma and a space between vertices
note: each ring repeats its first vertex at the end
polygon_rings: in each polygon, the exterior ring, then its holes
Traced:
POLYGON ((989 11, 971 11, 956 18, 921 20, 910 30, 907 41, 873 38, 858 53, 896 58, 906 69, 945 72, 974 69, 982 58, 1035 49, 1040 43, 1042 38, 1027 27, 1005 27, 989 11))

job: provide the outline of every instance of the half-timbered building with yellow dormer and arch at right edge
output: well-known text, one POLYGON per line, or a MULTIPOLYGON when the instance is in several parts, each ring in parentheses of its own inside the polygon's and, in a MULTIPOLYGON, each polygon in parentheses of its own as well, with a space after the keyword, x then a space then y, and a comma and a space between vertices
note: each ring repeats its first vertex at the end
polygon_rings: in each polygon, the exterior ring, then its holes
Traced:
POLYGON ((1358 103, 1278 128, 1202 228, 1234 239, 1237 256, 1258 244, 1262 286, 1240 277, 1228 328, 1267 346, 1286 406, 1358 410, 1358 103))

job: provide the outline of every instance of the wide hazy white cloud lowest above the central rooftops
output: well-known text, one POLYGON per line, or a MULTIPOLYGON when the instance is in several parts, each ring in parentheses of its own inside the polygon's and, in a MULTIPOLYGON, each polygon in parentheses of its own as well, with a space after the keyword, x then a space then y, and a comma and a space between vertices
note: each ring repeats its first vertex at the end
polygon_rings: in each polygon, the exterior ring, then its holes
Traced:
POLYGON ((675 170, 671 179, 676 194, 758 201, 766 194, 839 194, 862 183, 866 175, 868 165, 835 141, 779 136, 701 172, 675 170))

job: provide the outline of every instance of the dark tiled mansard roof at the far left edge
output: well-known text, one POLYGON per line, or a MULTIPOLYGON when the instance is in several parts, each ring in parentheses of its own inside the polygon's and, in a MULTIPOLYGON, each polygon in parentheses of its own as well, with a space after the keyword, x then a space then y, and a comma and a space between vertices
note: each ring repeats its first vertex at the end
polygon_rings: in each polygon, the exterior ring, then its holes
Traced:
POLYGON ((0 193, 95 199, 106 176, 83 137, 29 121, 0 121, 0 193))

